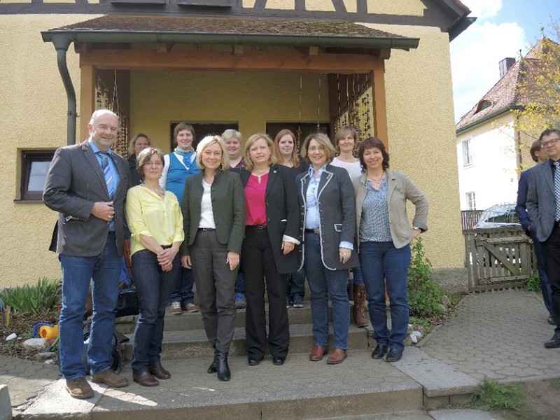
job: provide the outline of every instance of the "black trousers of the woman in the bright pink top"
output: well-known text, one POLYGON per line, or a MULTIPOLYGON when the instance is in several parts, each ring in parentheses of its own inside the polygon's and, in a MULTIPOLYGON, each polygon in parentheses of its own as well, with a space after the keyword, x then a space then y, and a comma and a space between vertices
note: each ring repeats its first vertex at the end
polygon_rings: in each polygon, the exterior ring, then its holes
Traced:
MULTIPOLYGON (((281 244, 274 244, 281 246, 281 244)), ((288 274, 279 274, 266 229, 246 229, 241 247, 245 298, 247 301, 245 334, 248 358, 265 355, 267 329, 265 282, 268 297, 268 349, 273 357, 286 357, 290 344, 286 286, 288 274)))

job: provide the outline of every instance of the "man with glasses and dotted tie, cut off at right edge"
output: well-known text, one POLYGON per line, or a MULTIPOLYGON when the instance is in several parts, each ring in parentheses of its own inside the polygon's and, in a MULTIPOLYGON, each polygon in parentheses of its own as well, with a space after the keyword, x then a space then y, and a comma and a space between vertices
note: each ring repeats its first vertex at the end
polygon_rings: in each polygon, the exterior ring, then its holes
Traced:
POLYGON ((554 336, 545 347, 560 347, 560 130, 540 134, 540 146, 548 160, 529 173, 527 214, 531 231, 542 245, 542 256, 552 290, 554 336))

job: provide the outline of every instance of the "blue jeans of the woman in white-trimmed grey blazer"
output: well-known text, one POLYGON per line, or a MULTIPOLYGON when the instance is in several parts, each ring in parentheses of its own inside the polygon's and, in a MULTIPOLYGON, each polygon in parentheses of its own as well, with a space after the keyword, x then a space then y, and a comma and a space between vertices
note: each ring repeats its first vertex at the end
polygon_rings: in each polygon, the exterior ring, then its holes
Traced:
POLYGON ((346 293, 347 269, 326 269, 321 260, 321 237, 305 233, 304 269, 311 290, 311 319, 316 346, 328 346, 328 297, 332 303, 335 349, 348 348, 350 302, 346 293))

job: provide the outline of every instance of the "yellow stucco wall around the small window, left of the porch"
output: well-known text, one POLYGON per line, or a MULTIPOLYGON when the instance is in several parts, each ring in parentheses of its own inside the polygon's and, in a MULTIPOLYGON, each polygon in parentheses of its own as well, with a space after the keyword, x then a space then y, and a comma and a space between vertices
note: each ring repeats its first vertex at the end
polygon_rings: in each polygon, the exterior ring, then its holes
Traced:
MULTIPOLYGON (((87 18, 91 15, 0 15, 4 169, 0 178, 0 288, 33 283, 43 276, 60 277, 57 255, 48 251, 56 214, 41 202, 14 201, 19 198, 19 151, 66 144, 66 93, 55 48, 43 43, 40 31, 87 18)), ((73 47, 68 62, 79 92, 78 55, 73 47)))

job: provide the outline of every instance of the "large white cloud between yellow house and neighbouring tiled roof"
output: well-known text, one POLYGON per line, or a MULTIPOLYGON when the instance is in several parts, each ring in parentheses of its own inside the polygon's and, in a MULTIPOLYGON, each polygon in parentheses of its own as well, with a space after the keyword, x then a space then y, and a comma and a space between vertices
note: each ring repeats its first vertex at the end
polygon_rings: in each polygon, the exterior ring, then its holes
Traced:
MULTIPOLYGON (((500 0, 470 3, 500 3, 500 0)), ((519 58, 526 48, 525 30, 517 23, 478 21, 451 42, 451 73, 458 120, 484 96, 500 78, 498 63, 505 57, 519 58)))

